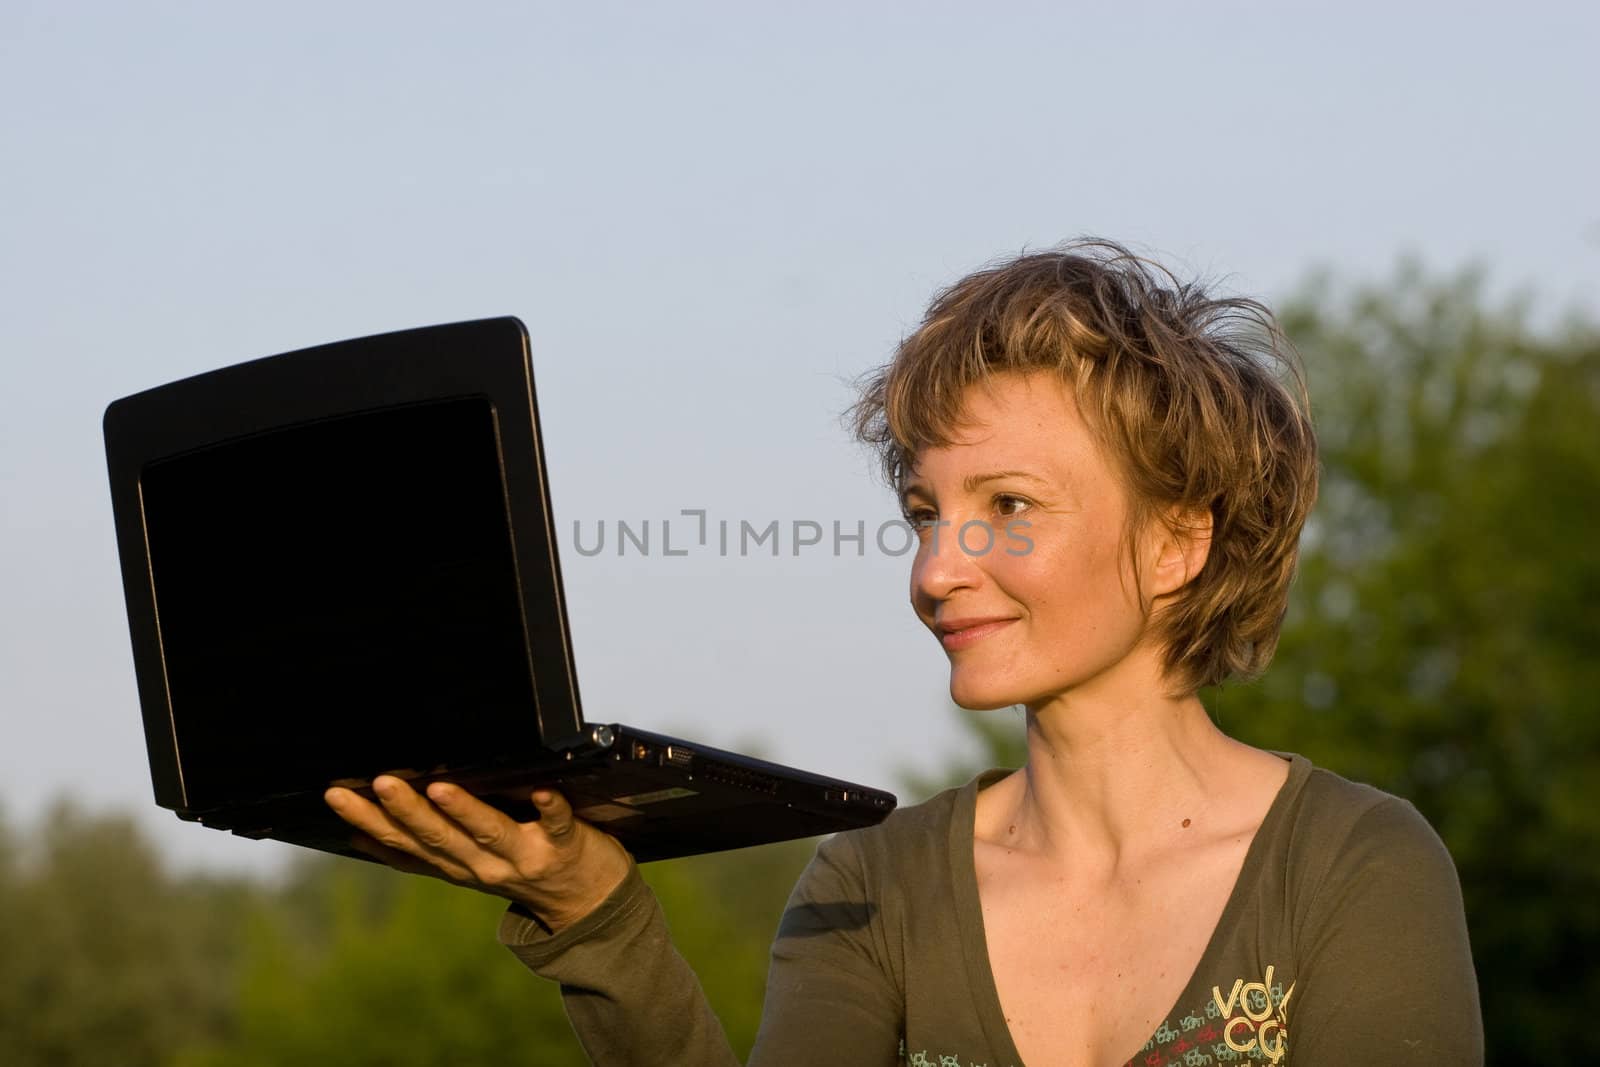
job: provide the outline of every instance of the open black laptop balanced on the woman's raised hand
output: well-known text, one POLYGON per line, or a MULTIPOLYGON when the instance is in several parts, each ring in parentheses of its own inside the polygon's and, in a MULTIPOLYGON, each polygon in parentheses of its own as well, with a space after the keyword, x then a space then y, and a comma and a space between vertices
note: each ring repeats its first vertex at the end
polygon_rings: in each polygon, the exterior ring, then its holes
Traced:
POLYGON ((427 326, 106 410, 155 801, 366 859, 323 805, 398 774, 518 821, 555 785, 640 861, 882 821, 891 793, 584 721, 528 334, 427 326))

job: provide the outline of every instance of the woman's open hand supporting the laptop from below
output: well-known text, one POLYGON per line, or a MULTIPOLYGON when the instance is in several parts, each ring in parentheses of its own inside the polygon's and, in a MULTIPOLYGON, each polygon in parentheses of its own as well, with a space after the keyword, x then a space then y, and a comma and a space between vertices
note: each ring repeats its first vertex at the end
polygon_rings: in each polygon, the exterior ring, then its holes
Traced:
POLYGON ((552 931, 592 912, 627 877, 622 845, 574 816, 554 789, 533 792, 533 822, 517 822, 450 782, 430 784, 424 797, 379 774, 373 792, 378 805, 349 789, 323 793, 362 832, 355 848, 397 870, 518 901, 552 931))

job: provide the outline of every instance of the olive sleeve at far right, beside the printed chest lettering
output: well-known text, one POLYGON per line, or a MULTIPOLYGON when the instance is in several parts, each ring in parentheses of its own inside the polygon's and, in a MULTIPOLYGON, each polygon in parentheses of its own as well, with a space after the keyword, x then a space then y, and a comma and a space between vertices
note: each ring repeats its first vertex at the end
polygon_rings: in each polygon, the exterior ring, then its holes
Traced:
POLYGON ((1304 937, 1290 1064, 1483 1062, 1461 881, 1411 803, 1387 797, 1355 821, 1304 937))

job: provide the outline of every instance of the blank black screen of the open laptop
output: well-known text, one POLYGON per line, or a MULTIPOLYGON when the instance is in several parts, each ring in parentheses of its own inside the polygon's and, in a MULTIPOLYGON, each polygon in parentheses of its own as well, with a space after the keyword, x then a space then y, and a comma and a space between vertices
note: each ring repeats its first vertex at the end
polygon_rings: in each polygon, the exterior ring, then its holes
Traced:
POLYGON ((155 461, 141 504, 190 808, 538 745, 488 398, 155 461))

